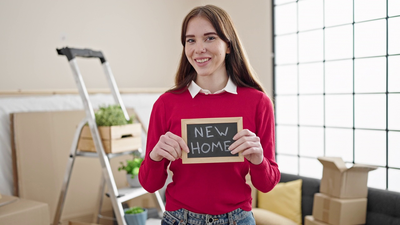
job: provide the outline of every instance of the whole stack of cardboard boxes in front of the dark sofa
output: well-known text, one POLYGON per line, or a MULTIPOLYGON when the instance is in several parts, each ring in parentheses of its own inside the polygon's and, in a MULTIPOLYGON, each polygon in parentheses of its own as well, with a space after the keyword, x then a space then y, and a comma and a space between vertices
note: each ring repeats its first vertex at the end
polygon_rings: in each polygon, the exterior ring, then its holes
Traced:
POLYGON ((312 216, 304 225, 365 224, 368 172, 377 167, 354 164, 347 168, 341 158, 319 157, 324 166, 320 193, 314 195, 312 216))

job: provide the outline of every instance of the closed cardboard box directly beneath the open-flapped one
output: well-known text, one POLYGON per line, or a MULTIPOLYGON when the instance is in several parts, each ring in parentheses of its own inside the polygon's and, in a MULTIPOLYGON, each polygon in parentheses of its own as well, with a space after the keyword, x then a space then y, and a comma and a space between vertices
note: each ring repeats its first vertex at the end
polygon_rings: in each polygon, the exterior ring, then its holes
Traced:
POLYGON ((367 199, 338 199, 315 193, 312 215, 315 219, 332 225, 365 224, 367 199))

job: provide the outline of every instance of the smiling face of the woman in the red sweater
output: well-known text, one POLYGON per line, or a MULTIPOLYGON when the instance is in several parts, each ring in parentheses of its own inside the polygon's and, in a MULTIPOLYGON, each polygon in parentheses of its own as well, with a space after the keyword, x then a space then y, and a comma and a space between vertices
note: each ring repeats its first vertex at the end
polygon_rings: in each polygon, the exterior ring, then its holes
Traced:
POLYGON ((225 55, 230 52, 211 22, 200 16, 186 27, 185 53, 199 76, 226 76, 225 55))

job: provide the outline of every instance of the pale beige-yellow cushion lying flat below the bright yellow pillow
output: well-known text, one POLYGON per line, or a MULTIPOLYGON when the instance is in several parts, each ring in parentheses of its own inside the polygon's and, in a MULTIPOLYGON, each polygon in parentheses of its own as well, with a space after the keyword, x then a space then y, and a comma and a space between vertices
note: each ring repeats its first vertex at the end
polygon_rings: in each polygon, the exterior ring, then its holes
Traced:
POLYGON ((256 220, 256 225, 297 225, 291 219, 265 209, 253 208, 251 211, 256 220))

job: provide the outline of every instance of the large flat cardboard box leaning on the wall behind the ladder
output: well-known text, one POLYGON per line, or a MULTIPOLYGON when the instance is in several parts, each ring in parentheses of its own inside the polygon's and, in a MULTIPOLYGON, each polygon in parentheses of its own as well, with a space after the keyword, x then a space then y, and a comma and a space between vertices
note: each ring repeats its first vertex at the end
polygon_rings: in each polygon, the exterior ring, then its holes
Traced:
MULTIPOLYGON (((128 113, 133 112, 127 110, 128 113)), ((83 110, 12 114, 15 193, 20 198, 47 203, 52 223, 72 139, 76 126, 84 117, 83 110)), ((120 162, 126 159, 132 159, 132 155, 110 160, 118 188, 127 186, 126 173, 118 171, 120 162)), ((70 220, 82 221, 82 218, 87 218, 85 222, 92 221, 94 213, 98 212, 96 205, 102 179, 101 168, 98 158, 76 157, 61 215, 62 225, 68 225, 70 220)), ((112 211, 110 198, 104 197, 102 212, 109 211, 112 211)))

